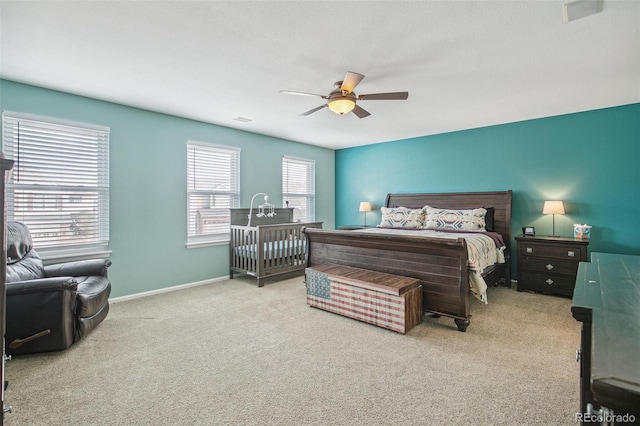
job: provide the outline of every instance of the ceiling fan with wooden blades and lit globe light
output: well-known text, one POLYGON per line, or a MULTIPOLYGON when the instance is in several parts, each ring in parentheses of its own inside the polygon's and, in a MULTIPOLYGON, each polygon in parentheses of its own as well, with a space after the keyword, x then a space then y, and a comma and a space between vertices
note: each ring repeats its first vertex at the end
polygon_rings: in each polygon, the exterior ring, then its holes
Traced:
POLYGON ((301 96, 319 96, 322 99, 326 99, 327 103, 319 107, 310 109, 307 112, 303 112, 300 115, 310 115, 316 111, 320 111, 322 108, 329 108, 336 114, 346 114, 353 112, 359 118, 365 118, 371 115, 368 111, 361 108, 356 104, 356 101, 368 101, 368 100, 404 100, 409 97, 409 92, 389 92, 389 93, 370 93, 368 95, 356 95, 353 89, 356 88, 358 83, 362 81, 364 75, 357 72, 348 71, 347 75, 342 81, 336 81, 336 88, 333 89, 328 95, 318 95, 315 93, 304 92, 292 92, 290 90, 281 90, 280 93, 288 95, 301 95, 301 96))

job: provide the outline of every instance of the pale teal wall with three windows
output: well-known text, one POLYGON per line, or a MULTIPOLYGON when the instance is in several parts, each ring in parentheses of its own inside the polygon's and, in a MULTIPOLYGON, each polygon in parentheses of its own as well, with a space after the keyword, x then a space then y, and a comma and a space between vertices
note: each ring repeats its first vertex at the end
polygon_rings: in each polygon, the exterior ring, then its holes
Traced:
POLYGON ((7 80, 0 108, 111 128, 112 297, 228 276, 228 244, 185 246, 187 140, 241 148, 242 207, 256 192, 282 205, 283 155, 315 160, 316 219, 334 227, 333 150, 7 80))

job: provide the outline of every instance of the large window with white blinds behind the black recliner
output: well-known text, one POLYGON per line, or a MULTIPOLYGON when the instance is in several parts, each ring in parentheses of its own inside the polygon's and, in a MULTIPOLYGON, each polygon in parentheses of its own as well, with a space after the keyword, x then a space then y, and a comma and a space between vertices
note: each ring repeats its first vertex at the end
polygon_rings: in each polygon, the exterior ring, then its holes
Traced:
POLYGON ((107 127, 4 112, 3 150, 15 161, 9 220, 29 227, 47 253, 87 253, 109 244, 107 127))

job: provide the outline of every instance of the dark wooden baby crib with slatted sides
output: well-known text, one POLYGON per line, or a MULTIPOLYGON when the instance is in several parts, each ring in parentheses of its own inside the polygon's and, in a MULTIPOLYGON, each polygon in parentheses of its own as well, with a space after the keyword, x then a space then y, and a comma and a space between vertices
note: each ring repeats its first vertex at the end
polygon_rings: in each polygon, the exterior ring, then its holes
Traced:
MULTIPOLYGON (((255 213, 255 210, 254 210, 255 213)), ((304 275, 307 238, 304 228, 322 228, 322 222, 293 222, 293 209, 275 209, 271 217, 251 218, 249 209, 231 209, 229 278, 242 273, 267 281, 304 275)))

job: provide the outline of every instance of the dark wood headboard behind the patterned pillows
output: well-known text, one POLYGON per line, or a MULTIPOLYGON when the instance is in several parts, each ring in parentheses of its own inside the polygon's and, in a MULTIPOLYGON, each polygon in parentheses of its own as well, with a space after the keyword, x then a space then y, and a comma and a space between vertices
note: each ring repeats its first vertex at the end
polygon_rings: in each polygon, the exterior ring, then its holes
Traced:
MULTIPOLYGON (((511 246, 512 191, 497 192, 443 192, 435 194, 387 194, 386 207, 416 207, 426 205, 441 209, 471 209, 493 207, 493 226, 502 235, 507 247, 511 246)), ((508 251, 506 251, 508 253, 508 251)))

